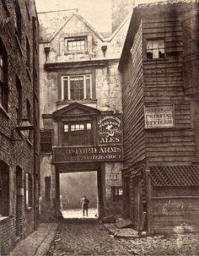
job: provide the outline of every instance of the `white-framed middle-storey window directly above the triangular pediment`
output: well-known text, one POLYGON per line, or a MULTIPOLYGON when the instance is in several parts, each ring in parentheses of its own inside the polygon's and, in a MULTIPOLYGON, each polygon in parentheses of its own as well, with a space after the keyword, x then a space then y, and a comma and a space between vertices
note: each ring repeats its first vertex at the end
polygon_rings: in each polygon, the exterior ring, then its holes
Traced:
POLYGON ((92 99, 91 74, 62 76, 62 101, 92 99))

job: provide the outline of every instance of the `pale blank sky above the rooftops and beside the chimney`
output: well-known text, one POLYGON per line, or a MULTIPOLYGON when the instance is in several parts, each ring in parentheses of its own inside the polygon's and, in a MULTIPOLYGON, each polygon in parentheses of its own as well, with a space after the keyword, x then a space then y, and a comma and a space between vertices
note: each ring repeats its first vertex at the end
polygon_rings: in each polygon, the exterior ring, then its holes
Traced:
MULTIPOLYGON (((121 0, 122 2, 122 0, 121 0)), ((159 0, 136 0, 136 4, 159 0)), ((111 0, 35 0, 37 12, 78 8, 79 14, 100 32, 111 30, 111 0)))

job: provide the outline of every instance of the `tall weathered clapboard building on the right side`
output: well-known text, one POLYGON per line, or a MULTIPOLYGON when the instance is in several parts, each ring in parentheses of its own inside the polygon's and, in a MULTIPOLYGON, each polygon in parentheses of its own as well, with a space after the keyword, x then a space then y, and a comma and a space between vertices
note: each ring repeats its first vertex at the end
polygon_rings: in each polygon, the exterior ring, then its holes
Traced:
POLYGON ((124 211, 148 232, 198 228, 198 3, 134 8, 121 54, 124 211))

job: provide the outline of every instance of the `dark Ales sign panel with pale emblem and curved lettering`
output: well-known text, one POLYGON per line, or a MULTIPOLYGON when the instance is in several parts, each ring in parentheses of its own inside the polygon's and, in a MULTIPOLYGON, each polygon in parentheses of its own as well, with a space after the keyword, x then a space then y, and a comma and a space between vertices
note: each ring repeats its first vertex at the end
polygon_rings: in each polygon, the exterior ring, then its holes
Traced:
POLYGON ((121 115, 100 116, 98 119, 98 134, 99 144, 121 144, 121 115))

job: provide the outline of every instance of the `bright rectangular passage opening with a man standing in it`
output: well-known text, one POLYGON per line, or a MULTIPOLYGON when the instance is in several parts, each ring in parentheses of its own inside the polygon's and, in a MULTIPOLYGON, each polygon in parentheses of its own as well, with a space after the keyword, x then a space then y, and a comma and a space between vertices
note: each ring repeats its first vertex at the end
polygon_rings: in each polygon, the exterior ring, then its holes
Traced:
POLYGON ((59 174, 60 210, 63 218, 87 218, 83 216, 82 199, 89 199, 89 218, 99 216, 98 172, 64 172, 59 174))

